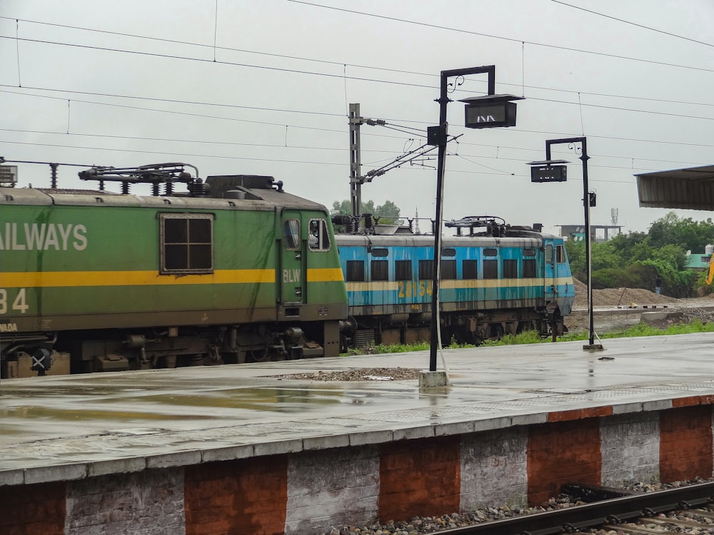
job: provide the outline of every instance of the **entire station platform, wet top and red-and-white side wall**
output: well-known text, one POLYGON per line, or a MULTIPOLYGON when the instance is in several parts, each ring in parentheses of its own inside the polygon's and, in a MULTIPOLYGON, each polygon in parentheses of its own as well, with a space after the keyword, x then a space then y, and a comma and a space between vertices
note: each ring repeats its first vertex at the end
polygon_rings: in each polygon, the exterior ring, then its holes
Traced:
POLYGON ((307 534, 711 477, 714 335, 602 342, 444 350, 451 384, 428 389, 291 378, 428 352, 4 379, 0 531, 38 489, 37 532, 307 534))

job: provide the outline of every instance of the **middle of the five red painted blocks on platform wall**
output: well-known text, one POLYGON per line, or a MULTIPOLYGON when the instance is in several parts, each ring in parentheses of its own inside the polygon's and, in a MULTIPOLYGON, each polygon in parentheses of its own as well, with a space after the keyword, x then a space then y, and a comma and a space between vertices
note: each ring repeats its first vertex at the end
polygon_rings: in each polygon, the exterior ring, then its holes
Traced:
POLYGON ((460 437, 403 440, 381 445, 381 521, 406 520, 459 510, 460 437))

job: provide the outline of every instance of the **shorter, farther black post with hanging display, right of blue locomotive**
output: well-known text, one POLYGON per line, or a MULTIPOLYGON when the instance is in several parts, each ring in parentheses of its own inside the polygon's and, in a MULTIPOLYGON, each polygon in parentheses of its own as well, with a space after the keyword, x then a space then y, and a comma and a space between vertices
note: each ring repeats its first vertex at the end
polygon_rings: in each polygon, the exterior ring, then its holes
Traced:
POLYGON ((583 350, 601 351, 603 345, 595 344, 595 328, 593 321, 593 264, 590 258, 590 206, 595 205, 595 194, 590 194, 588 188, 588 138, 562 138, 548 139, 545 141, 545 161, 531 162, 532 182, 563 182, 565 181, 565 165, 555 165, 567 163, 564 160, 550 159, 550 146, 560 143, 580 143, 580 161, 583 162, 583 209, 585 211, 585 269, 588 277, 588 344, 583 345, 583 350))

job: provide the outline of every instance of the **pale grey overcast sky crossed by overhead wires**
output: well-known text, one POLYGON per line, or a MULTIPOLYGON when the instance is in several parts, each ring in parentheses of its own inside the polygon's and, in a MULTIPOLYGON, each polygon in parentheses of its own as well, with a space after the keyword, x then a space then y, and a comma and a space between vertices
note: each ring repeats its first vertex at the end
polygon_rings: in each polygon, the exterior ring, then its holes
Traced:
MULTIPOLYGON (((445 219, 582 223, 575 151, 553 147, 566 183, 531 183, 548 139, 588 139, 591 223, 616 210, 625 231, 669 211, 638 206, 635 173, 714 163, 711 0, 0 0, 0 17, 7 160, 273 175, 329 208, 350 193, 349 103, 388 123, 362 127, 366 174, 425 143, 441 71, 494 65, 496 93, 526 100, 513 128, 463 128, 458 99, 486 75, 453 80, 445 219)), ((426 158, 363 199, 433 218, 426 158)), ((19 186, 49 186, 49 166, 16 165, 19 186)), ((88 187, 78 170, 59 184, 88 187)))

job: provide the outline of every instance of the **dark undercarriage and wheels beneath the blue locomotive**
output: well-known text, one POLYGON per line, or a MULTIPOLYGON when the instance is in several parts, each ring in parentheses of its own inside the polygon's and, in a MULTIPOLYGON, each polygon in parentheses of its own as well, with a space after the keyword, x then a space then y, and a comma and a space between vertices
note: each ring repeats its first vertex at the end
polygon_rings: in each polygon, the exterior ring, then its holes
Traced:
MULTIPOLYGON (((480 345, 485 340, 500 340, 535 330, 542 337, 567 332, 558 307, 493 311, 442 312, 441 343, 480 345)), ((431 313, 392 314, 357 317, 356 330, 348 342, 355 347, 371 345, 415 344, 431 340, 431 313)), ((344 349, 344 348, 343 348, 344 349)))

